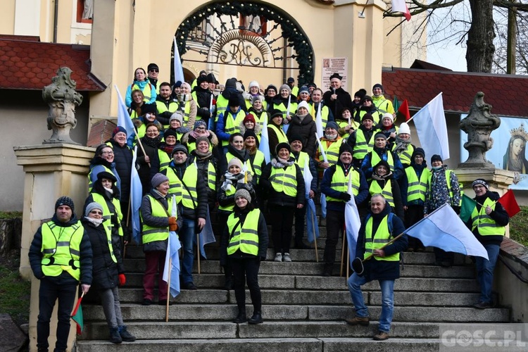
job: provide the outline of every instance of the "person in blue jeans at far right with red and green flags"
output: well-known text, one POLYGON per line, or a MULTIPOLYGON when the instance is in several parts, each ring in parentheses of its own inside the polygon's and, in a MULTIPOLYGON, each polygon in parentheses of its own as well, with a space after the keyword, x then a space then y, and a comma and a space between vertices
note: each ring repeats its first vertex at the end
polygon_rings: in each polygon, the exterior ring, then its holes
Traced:
POLYGON ((494 306, 491 289, 494 285, 494 270, 498 252, 505 235, 505 226, 510 217, 501 203, 498 193, 489 190, 486 180, 474 180, 472 188, 477 202, 467 226, 471 229, 479 242, 488 252, 488 259, 476 257, 477 279, 480 286, 479 301, 473 305, 477 309, 492 308, 494 306))

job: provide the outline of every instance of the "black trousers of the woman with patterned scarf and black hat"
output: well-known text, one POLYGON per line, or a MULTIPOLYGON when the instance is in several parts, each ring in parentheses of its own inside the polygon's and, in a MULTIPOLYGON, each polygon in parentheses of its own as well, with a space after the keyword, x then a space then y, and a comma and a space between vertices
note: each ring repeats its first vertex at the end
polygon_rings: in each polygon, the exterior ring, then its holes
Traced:
POLYGON ((291 227, 294 225, 294 207, 270 204, 271 233, 275 253, 289 253, 291 227))

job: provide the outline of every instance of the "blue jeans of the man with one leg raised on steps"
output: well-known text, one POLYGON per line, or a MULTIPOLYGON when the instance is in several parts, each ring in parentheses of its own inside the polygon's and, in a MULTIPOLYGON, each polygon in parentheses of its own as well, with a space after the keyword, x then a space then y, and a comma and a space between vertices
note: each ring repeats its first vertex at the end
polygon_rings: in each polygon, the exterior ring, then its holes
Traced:
MULTIPOLYGON (((365 284, 367 279, 359 276, 354 272, 348 278, 348 291, 354 303, 356 316, 365 318, 368 316, 368 308, 363 301, 363 292, 361 285, 365 284)), ((379 316, 379 331, 390 332, 392 316, 394 315, 394 280, 378 280, 379 287, 382 289, 382 314, 379 316)))

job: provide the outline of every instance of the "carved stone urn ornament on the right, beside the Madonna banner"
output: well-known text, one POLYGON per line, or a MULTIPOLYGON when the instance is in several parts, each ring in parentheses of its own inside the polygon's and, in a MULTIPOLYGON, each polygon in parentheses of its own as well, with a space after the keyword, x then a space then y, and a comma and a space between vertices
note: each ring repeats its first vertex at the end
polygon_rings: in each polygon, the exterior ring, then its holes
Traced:
POLYGON ((459 168, 495 168, 494 163, 486 160, 486 151, 494 145, 491 131, 501 125, 501 118, 491 113, 491 105, 484 103, 484 93, 474 96, 470 113, 460 121, 460 130, 467 133, 464 148, 470 153, 467 161, 459 168))

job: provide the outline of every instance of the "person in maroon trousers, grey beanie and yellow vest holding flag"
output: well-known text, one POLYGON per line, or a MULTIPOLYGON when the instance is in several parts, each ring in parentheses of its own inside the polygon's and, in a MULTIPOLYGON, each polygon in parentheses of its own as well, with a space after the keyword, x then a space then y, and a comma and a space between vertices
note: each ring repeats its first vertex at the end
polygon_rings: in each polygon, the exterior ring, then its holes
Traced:
MULTIPOLYGON (((143 306, 150 306, 154 299, 154 281, 158 274, 158 304, 167 304, 168 286, 163 281, 165 257, 169 231, 182 227, 182 209, 178 206, 176 216, 172 215, 172 197, 169 194, 169 179, 157 173, 151 180, 152 189, 142 199, 140 215, 142 219, 142 243, 145 252, 145 272, 143 275, 143 306)), ((170 303, 169 303, 170 304, 170 303)))

